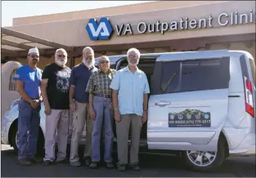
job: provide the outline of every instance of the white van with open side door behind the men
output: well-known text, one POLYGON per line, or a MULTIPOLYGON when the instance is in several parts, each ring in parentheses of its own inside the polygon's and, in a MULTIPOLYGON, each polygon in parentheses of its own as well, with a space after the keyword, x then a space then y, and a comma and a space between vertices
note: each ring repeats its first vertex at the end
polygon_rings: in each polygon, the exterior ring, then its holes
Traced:
MULTIPOLYGON (((128 65, 125 55, 110 56, 110 62, 115 69, 128 65)), ((229 156, 255 154, 255 64, 248 52, 141 54, 138 67, 150 83, 141 152, 175 153, 197 171, 214 170, 229 156)), ((9 123, 2 140, 12 138, 14 147, 17 112, 12 106, 3 118, 9 123)), ((42 111, 43 135, 44 119, 42 111)))

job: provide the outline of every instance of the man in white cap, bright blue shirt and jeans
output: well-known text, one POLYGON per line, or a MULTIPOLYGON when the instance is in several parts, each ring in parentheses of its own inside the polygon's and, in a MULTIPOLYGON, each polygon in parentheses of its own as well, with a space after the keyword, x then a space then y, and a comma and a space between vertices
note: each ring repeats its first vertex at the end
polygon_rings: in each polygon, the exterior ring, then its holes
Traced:
MULTIPOLYGON (((18 140, 20 165, 28 166, 32 162, 41 162, 34 155, 37 153, 38 132, 41 110, 42 69, 38 69, 39 51, 37 47, 29 49, 28 65, 21 66, 15 76, 16 85, 20 93, 18 140)), ((43 160, 42 160, 43 161, 43 160)))

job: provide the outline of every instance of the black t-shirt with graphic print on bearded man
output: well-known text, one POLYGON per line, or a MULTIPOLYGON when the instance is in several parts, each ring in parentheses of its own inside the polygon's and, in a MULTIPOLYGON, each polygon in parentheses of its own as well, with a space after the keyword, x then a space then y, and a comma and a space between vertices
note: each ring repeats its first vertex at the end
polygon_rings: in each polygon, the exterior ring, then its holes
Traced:
POLYGON ((70 109, 70 73, 70 68, 62 68, 55 63, 43 70, 42 79, 48 78, 47 96, 51 109, 70 109))

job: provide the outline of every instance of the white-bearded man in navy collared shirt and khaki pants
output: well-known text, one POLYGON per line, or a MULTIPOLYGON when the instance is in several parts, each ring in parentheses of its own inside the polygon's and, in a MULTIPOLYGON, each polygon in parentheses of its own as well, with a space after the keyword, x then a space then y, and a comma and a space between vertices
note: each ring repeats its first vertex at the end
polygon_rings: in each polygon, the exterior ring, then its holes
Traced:
POLYGON ((92 73, 97 71, 94 67, 94 51, 91 47, 83 49, 83 62, 74 66, 70 77, 70 109, 73 111, 73 132, 70 148, 70 165, 81 166, 79 161, 79 140, 81 140, 83 128, 86 129, 86 143, 84 148, 84 163, 89 166, 92 155, 92 119, 89 117, 88 103, 89 93, 86 92, 88 80, 92 73))

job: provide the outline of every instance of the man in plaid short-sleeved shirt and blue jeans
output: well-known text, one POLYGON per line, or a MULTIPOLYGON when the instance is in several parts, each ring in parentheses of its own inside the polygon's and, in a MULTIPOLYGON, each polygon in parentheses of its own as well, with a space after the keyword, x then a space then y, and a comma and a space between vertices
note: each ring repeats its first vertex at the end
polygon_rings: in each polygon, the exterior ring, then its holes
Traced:
POLYGON ((89 112, 93 120, 92 127, 92 163, 91 168, 97 168, 101 161, 100 141, 101 126, 104 122, 105 162, 106 167, 113 168, 113 105, 111 100, 110 83, 115 76, 115 69, 110 69, 110 60, 107 56, 99 58, 99 70, 92 73, 86 91, 89 92, 89 112))

